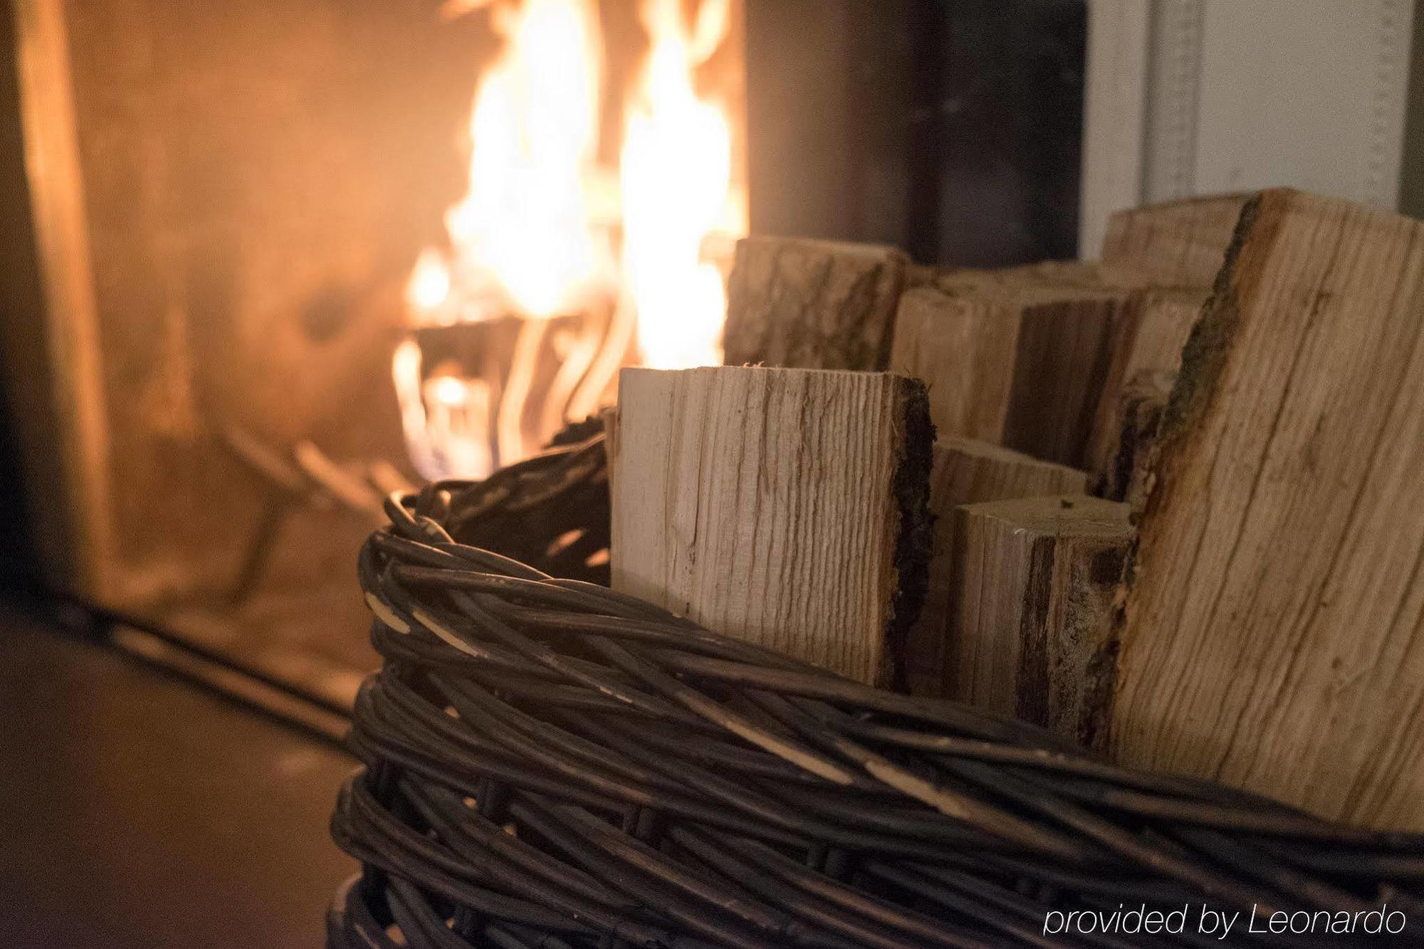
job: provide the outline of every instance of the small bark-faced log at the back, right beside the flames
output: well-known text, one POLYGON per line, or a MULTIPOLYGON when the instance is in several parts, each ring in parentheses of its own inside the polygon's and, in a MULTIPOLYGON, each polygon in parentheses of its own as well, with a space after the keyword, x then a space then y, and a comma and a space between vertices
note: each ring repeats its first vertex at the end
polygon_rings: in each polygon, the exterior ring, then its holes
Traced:
POLYGON ((884 369, 907 266, 874 244, 742 238, 728 278, 726 365, 884 369))

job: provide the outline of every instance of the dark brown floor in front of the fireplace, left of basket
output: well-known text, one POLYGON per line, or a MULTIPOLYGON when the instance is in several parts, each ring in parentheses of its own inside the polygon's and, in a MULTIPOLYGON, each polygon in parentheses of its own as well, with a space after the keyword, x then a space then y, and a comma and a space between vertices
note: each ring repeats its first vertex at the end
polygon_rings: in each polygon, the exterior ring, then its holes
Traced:
POLYGON ((319 946, 330 745, 0 606, 0 946, 319 946))

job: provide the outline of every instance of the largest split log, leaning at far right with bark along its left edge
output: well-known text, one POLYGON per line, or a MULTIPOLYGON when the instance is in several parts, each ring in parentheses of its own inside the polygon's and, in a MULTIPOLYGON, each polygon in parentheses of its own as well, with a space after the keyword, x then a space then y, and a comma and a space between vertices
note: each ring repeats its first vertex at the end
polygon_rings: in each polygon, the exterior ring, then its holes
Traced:
POLYGON ((1280 190, 1242 228, 1163 423, 1112 748, 1424 829, 1424 225, 1280 190))

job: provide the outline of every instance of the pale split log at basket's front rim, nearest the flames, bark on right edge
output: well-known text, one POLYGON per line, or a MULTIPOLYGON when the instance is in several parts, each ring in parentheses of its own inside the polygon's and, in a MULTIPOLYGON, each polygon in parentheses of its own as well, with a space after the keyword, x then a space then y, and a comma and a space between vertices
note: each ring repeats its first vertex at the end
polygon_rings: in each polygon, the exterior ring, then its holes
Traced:
POLYGON ((624 369, 614 588, 863 683, 903 678, 933 429, 890 373, 624 369))

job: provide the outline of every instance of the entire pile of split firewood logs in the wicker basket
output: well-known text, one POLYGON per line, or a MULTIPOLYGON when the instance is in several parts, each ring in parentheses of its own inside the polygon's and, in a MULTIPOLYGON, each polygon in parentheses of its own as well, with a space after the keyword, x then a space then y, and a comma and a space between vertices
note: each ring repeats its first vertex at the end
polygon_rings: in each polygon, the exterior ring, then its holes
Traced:
POLYGON ((1421 238, 1287 190, 1122 212, 1092 264, 748 238, 729 365, 622 373, 614 586, 1421 829, 1421 238))

